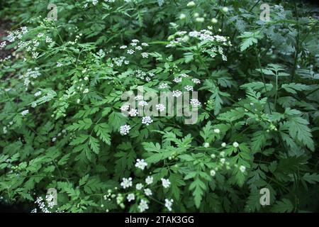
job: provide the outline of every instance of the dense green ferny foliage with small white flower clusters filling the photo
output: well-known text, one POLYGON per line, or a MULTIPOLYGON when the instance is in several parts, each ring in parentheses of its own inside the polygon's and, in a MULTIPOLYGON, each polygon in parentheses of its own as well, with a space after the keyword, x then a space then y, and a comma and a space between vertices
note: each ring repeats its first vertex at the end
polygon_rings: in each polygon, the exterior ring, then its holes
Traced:
POLYGON ((316 6, 49 4, 0 4, 11 28, 0 40, 1 203, 34 212, 319 211, 316 6), (141 89, 198 92, 197 121, 137 115, 121 96, 141 89))

